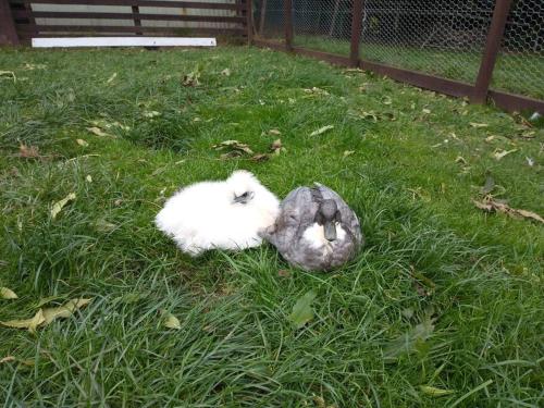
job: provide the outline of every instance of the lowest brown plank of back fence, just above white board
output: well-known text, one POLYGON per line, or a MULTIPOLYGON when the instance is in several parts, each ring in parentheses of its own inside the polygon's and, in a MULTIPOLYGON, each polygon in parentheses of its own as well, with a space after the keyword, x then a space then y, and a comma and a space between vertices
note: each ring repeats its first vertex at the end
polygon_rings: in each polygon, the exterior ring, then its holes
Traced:
MULTIPOLYGON (((59 32, 69 32, 69 33, 197 33, 202 32, 200 27, 147 27, 147 26, 114 26, 114 25, 35 25, 35 24, 17 24, 16 25, 17 33, 59 33, 59 32)), ((225 33, 245 33, 244 28, 212 28, 206 27, 207 32, 225 32, 225 33)))

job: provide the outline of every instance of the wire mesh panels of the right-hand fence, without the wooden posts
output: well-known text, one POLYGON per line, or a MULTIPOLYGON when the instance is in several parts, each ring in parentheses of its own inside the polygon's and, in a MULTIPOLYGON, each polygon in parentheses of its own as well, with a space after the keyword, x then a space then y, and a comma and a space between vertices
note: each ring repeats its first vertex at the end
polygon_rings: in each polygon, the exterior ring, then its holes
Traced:
MULTIPOLYGON (((355 0, 290 0, 293 45, 350 54, 355 0)), ((257 0, 262 39, 284 41, 285 0, 257 0)), ((363 0, 360 59, 474 85, 496 0, 363 0)), ((512 0, 492 88, 544 99, 544 0, 512 0)))

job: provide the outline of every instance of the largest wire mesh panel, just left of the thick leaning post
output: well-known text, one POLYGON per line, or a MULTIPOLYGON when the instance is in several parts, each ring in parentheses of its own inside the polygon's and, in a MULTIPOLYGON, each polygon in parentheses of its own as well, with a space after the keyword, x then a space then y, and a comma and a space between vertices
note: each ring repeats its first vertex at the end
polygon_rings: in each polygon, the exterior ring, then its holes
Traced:
POLYGON ((493 5, 493 0, 367 0, 361 57, 473 83, 493 5))

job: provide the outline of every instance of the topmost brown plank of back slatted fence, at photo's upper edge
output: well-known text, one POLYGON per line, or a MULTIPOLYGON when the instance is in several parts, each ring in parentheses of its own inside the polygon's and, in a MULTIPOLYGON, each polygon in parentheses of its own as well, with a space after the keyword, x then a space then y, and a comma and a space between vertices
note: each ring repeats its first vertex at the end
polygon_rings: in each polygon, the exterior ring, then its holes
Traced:
MULTIPOLYGON (((9 0, 10 3, 24 3, 28 0, 9 0)), ((83 4, 83 5, 137 5, 175 9, 246 10, 243 3, 207 3, 201 1, 151 1, 151 0, 33 0, 34 4, 83 4)))

